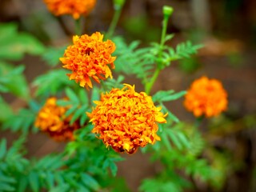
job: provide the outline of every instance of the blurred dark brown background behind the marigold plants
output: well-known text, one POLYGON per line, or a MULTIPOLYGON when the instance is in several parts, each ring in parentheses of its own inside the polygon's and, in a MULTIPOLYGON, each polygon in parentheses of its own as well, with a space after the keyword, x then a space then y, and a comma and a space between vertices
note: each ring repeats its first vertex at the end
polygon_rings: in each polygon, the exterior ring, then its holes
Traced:
MULTIPOLYGON (((206 75, 222 81, 229 95, 229 109, 213 122, 203 122, 206 126, 226 125, 211 133, 210 142, 218 150, 229 156, 233 168, 219 191, 256 191, 256 1, 254 0, 126 0, 122 16, 115 34, 122 35, 127 42, 140 40, 142 46, 160 41, 162 30, 162 6, 174 7, 168 33, 174 39, 168 43, 190 39, 204 45, 193 58, 174 62, 162 71, 156 82, 156 90, 186 90, 195 78, 206 75), (248 120, 249 119, 249 120, 248 120), (215 124, 214 124, 215 123, 215 124)), ((83 33, 106 31, 114 10, 110 0, 98 0, 94 11, 83 21, 83 33)), ((74 34, 74 21, 70 16, 54 17, 42 0, 1 0, 0 22, 18 23, 18 30, 33 34, 48 46, 62 46, 70 42, 74 34)), ((0 45, 1 46, 1 45, 0 45)), ((49 70, 41 58, 26 55, 22 60, 26 65, 26 78, 31 82, 38 74, 49 70)), ((60 66, 61 67, 61 66, 60 66)), ((127 78, 137 90, 142 85, 134 77, 127 78)), ((14 108, 22 105, 10 95, 4 95, 14 108)), ((170 102, 169 109, 181 121, 192 122, 183 100, 170 102)), ((14 134, 2 135, 14 139, 14 134)), ((31 135, 27 143, 29 157, 61 150, 64 143, 47 139, 44 134, 31 135)), ((137 191, 142 178, 154 176, 161 169, 158 163, 150 163, 147 154, 138 152, 123 155, 126 161, 119 162, 118 175, 126 179, 131 191, 137 191)), ((171 163, 171 162, 170 162, 171 163)), ((198 183, 197 190, 210 191, 198 183)))

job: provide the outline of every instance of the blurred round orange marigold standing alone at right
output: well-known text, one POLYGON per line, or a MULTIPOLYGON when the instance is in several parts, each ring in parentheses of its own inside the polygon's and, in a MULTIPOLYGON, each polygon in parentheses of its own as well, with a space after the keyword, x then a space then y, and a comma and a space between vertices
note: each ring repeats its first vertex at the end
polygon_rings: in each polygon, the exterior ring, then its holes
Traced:
POLYGON ((205 115, 207 118, 216 116, 227 108, 227 93, 222 82, 206 77, 195 80, 187 94, 184 105, 194 116, 205 115))

